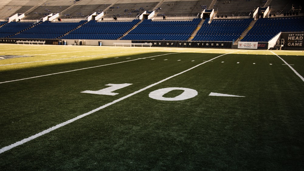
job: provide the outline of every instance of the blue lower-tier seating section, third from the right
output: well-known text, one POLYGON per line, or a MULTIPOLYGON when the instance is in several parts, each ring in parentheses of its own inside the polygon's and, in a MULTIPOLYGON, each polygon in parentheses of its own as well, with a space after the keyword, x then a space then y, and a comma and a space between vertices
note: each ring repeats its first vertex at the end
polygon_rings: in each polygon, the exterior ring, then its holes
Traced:
POLYGON ((192 21, 144 20, 122 40, 179 40, 186 41, 201 19, 192 21))

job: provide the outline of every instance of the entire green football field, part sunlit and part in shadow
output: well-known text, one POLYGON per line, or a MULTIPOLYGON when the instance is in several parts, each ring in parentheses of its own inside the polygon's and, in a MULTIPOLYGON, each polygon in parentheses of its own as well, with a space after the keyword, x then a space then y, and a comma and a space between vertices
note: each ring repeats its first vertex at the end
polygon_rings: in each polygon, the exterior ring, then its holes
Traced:
POLYGON ((9 55, 0 170, 304 170, 302 51, 0 44, 9 55))

